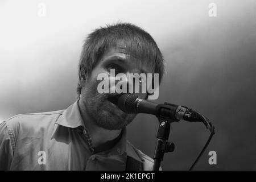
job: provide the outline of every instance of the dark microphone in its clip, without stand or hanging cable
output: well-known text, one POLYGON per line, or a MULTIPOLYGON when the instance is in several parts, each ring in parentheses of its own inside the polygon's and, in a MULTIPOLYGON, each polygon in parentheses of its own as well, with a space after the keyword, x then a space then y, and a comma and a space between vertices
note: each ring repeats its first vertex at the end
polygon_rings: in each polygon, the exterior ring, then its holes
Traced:
POLYGON ((170 104, 155 104, 154 102, 144 100, 135 94, 122 94, 115 100, 110 100, 122 111, 128 114, 146 113, 156 115, 156 117, 179 121, 183 119, 189 122, 203 122, 201 115, 188 107, 170 104))

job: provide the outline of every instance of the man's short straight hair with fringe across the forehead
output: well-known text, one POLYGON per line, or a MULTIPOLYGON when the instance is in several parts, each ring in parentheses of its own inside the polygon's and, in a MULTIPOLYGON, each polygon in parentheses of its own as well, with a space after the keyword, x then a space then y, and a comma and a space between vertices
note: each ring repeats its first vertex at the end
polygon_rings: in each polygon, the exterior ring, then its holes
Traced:
MULTIPOLYGON (((133 55, 146 61, 154 73, 159 73, 159 83, 164 73, 163 55, 155 40, 142 28, 131 23, 117 23, 106 25, 94 30, 88 35, 82 46, 79 61, 79 75, 84 66, 88 74, 92 72, 106 49, 118 46, 121 43, 133 55)), ((77 85, 77 94, 80 95, 82 87, 77 85)))

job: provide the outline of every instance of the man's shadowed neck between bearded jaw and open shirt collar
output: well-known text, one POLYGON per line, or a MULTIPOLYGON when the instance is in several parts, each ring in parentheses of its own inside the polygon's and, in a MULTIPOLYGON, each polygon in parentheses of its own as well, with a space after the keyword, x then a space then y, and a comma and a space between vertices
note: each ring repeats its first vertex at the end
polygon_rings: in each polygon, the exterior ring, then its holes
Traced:
POLYGON ((92 137, 92 143, 96 152, 109 150, 119 140, 122 130, 106 130, 98 127, 86 113, 84 102, 79 100, 79 109, 84 125, 92 137))

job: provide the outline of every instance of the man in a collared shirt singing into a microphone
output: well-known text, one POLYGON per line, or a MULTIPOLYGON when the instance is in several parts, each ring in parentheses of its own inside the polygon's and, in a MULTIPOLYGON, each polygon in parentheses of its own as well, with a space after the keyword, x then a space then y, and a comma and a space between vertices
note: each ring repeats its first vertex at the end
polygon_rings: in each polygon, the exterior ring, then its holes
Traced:
POLYGON ((109 101, 117 93, 98 92, 97 76, 106 73, 111 80, 114 69, 125 75, 158 73, 161 80, 163 68, 162 53, 141 28, 119 23, 93 31, 79 62, 79 99, 66 110, 20 114, 2 122, 0 169, 151 170, 154 161, 126 139, 126 126, 135 115, 109 101))

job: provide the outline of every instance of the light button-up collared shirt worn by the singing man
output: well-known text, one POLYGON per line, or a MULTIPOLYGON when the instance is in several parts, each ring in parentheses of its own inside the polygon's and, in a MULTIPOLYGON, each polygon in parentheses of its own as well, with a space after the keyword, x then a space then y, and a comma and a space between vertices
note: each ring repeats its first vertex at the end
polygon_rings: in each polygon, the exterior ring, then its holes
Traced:
POLYGON ((127 156, 152 169, 154 160, 127 141, 126 128, 113 148, 94 153, 77 101, 0 124, 0 170, 125 170, 127 156))

